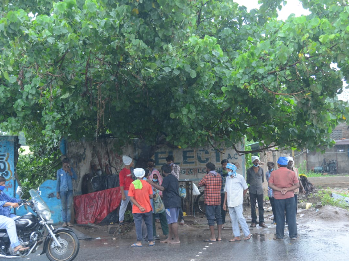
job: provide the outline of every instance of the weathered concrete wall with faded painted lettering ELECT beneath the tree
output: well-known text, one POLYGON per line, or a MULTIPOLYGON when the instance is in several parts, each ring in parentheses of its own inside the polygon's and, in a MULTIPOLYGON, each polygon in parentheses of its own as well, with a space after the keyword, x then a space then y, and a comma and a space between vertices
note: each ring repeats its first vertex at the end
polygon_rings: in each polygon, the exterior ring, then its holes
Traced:
MULTIPOLYGON (((116 142, 116 139, 107 139, 106 141, 83 140, 67 143, 67 155, 65 156, 71 159, 71 166, 78 175, 78 180, 74 183, 75 195, 81 194, 82 177, 87 173, 92 173, 92 165, 98 165, 103 172, 111 169, 113 174, 118 174, 124 167, 122 155, 128 155, 132 158, 138 158, 140 155, 138 142, 122 148, 120 155, 114 149, 116 142)), ((238 167, 238 173, 245 176, 245 157, 238 156, 232 148, 224 148, 219 144, 215 144, 215 146, 217 150, 213 148, 173 149, 162 146, 156 150, 153 159, 156 168, 160 169, 166 163, 165 158, 168 155, 173 155, 175 163, 181 168, 179 180, 192 180, 196 184, 206 174, 206 163, 214 163, 216 171, 218 171, 221 168, 222 159, 228 159, 229 162, 235 163, 238 167)), ((238 145, 237 148, 243 150, 243 144, 238 145)))

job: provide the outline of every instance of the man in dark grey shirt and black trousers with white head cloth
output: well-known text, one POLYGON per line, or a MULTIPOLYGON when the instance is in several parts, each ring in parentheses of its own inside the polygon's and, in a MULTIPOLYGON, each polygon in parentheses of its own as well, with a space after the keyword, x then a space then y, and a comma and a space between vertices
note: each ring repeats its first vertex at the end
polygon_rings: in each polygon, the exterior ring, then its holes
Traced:
POLYGON ((267 228, 264 224, 264 209, 263 209, 263 182, 264 173, 263 169, 259 167, 259 157, 252 156, 253 166, 247 169, 246 172, 246 183, 250 184, 250 199, 251 199, 251 228, 257 226, 257 214, 256 214, 256 201, 258 202, 258 216, 259 216, 259 226, 262 228, 267 228))

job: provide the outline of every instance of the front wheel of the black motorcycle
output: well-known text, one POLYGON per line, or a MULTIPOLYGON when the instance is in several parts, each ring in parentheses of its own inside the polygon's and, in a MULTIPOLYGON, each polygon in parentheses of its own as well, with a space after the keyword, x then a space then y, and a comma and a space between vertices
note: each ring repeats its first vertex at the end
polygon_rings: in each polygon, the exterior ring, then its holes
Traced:
POLYGON ((67 230, 55 233, 61 247, 56 246, 53 238, 46 245, 46 255, 51 261, 71 261, 79 253, 80 242, 74 232, 67 230))

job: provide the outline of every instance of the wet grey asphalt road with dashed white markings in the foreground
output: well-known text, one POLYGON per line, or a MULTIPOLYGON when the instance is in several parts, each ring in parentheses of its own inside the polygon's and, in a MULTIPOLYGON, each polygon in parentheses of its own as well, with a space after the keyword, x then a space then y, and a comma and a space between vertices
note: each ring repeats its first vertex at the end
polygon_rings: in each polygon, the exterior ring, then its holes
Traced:
MULTIPOLYGON (((181 244, 168 245, 156 241, 155 246, 131 247, 135 240, 102 238, 80 240, 76 261, 198 261, 198 260, 349 260, 349 225, 324 226, 320 224, 298 226, 299 239, 290 240, 287 229, 283 241, 273 240, 275 228, 255 228, 253 237, 244 242, 228 242, 231 230, 224 229, 222 242, 207 243, 204 238, 181 235, 181 244)), ((206 234, 207 235, 207 234, 206 234)), ((28 260, 28 259, 27 259, 28 260)), ((30 260, 47 260, 46 256, 32 254, 30 260)))

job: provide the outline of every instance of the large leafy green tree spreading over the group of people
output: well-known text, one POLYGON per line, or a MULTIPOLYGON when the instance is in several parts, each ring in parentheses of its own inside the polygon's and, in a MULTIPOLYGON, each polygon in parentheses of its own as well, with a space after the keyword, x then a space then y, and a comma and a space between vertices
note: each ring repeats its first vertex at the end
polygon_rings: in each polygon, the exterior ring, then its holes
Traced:
POLYGON ((348 1, 303 0, 311 14, 286 21, 286 1, 260 2, 2 0, 0 129, 43 146, 328 146, 348 117, 348 1))

